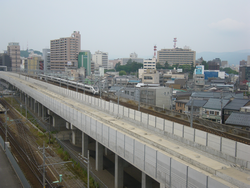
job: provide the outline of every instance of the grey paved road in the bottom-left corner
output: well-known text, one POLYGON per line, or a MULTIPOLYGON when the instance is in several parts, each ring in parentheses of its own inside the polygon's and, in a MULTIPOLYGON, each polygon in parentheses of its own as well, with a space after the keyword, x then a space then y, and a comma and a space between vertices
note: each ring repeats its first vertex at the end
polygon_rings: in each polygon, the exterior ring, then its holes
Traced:
POLYGON ((0 146, 0 187, 1 188, 18 188, 22 187, 16 176, 11 164, 0 146))

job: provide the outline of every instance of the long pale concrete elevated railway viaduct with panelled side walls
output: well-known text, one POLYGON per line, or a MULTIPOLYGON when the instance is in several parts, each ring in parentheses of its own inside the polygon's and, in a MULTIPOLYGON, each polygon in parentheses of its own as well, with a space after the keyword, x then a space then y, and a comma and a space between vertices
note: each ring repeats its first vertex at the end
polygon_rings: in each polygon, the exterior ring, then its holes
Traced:
POLYGON ((0 78, 39 116, 52 116, 54 128, 70 130, 83 156, 93 150, 96 170, 111 153, 114 187, 127 185, 124 171, 141 187, 250 186, 247 144, 22 75, 3 72, 0 78))

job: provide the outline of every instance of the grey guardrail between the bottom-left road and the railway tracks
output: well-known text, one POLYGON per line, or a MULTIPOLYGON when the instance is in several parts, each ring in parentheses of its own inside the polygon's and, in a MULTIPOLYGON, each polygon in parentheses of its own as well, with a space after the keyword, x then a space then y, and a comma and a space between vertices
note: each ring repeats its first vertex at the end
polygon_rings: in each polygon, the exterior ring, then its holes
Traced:
MULTIPOLYGON (((0 144, 2 145, 2 147, 4 147, 4 140, 2 139, 2 137, 0 136, 0 144)), ((5 147, 5 153, 14 169, 14 171, 16 172, 16 175, 19 177, 19 180, 21 181, 23 187, 25 188, 31 188, 29 182, 27 181, 26 177, 24 176, 21 168, 19 167, 19 165, 17 164, 15 158, 13 157, 11 151, 9 150, 8 147, 5 147)))

